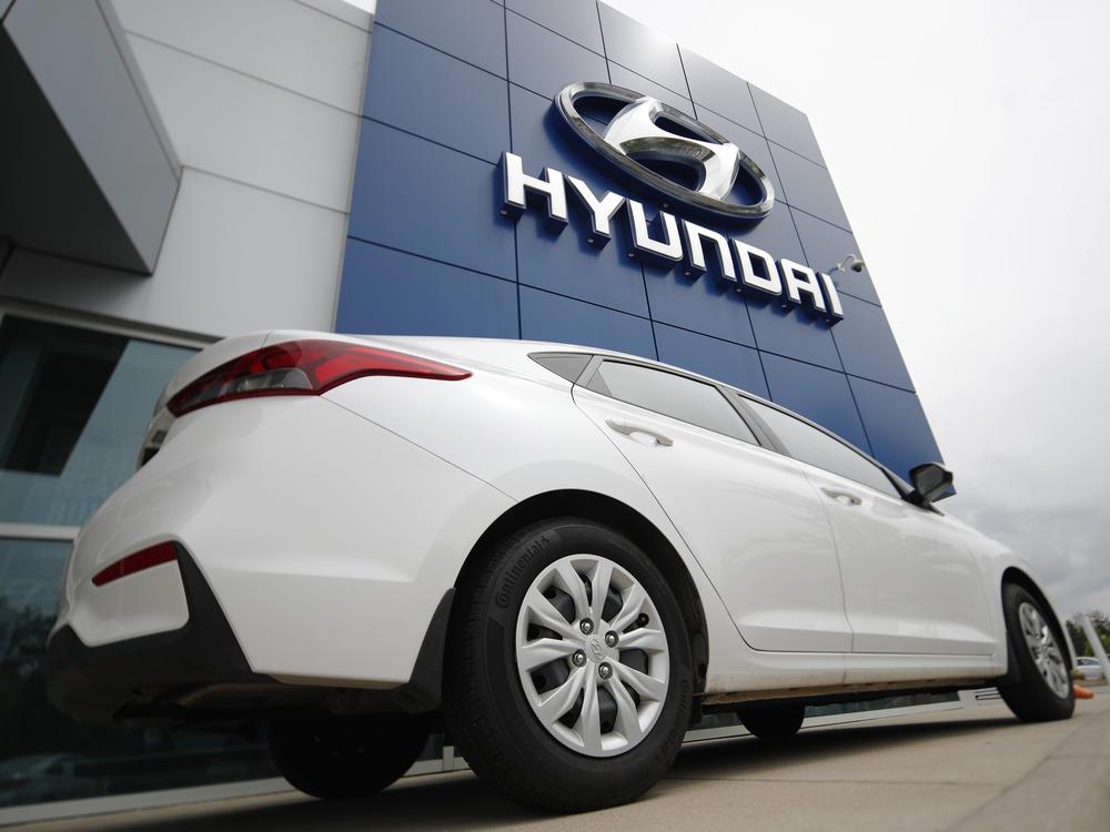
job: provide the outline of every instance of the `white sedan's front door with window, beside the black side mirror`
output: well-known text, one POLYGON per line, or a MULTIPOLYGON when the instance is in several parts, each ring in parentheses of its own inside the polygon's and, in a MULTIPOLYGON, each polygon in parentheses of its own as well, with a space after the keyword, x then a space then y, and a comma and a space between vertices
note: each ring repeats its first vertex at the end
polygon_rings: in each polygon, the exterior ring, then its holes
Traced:
POLYGON ((745 400, 805 466, 828 513, 852 651, 993 653, 982 580, 959 526, 902 499, 882 469, 848 444, 745 400))

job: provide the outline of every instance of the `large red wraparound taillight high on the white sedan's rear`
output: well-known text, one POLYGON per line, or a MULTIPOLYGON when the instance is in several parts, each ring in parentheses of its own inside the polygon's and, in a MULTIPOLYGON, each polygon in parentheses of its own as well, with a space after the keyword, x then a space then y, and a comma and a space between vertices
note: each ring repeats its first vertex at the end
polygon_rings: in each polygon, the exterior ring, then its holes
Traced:
POLYGON ((448 364, 341 341, 286 341, 211 369, 167 404, 174 416, 254 396, 319 396, 362 376, 412 376, 458 382, 470 373, 448 364))

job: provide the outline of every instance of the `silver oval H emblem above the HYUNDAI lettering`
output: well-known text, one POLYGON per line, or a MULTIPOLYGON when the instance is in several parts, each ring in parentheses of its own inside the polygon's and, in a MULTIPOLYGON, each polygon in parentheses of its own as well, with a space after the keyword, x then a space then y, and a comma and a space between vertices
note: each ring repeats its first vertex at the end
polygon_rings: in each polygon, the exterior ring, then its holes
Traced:
MULTIPOLYGON (((587 144, 627 173, 650 185, 665 197, 674 199, 727 219, 758 220, 775 204, 775 189, 767 174, 739 148, 680 110, 623 87, 583 81, 564 88, 555 97, 559 113, 587 144), (595 131, 578 113, 577 102, 602 98, 624 102, 604 133, 595 131), (673 133, 659 125, 670 121, 698 139, 673 133), (670 162, 693 168, 698 175, 696 189, 684 187, 640 164, 638 160, 670 162), (746 171, 760 190, 761 199, 751 205, 726 201, 740 171, 746 171)), ((666 207, 666 205, 664 205, 666 207)))

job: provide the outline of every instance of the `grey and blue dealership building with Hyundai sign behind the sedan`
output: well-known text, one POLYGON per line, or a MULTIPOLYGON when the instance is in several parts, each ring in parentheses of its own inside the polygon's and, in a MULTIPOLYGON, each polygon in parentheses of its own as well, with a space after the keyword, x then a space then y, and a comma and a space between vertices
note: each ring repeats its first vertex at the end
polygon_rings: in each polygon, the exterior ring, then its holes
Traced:
MULTIPOLYGON (((73 537, 223 336, 586 344, 780 403, 902 477, 940 458, 808 119, 604 3, 0 16, 0 823, 278 788, 261 726, 85 727, 43 694, 73 537)), ((425 757, 460 764, 440 738, 425 757)))

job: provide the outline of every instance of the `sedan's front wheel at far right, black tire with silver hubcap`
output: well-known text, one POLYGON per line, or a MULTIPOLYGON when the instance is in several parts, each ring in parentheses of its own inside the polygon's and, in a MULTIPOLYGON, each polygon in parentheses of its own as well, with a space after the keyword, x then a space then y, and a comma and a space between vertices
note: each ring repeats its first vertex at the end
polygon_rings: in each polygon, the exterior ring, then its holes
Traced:
POLYGON ((1006 584, 1002 615, 1010 657, 1021 678, 999 684, 998 692, 1025 722, 1068 719, 1076 710, 1076 693, 1060 633, 1049 623, 1051 613, 1025 588, 1006 584), (1035 657, 1035 648, 1039 657, 1035 657))

